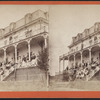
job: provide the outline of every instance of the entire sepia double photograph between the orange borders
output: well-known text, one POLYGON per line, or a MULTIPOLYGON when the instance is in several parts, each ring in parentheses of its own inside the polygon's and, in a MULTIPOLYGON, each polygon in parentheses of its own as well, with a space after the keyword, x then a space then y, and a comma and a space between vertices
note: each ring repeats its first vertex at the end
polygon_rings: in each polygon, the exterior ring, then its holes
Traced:
POLYGON ((100 5, 0 13, 0 91, 100 91, 100 5))

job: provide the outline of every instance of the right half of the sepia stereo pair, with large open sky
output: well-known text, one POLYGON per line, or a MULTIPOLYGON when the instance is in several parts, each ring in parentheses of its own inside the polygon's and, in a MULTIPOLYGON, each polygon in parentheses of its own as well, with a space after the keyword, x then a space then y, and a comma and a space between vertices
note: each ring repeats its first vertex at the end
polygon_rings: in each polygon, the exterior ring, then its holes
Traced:
POLYGON ((52 91, 99 91, 100 6, 49 6, 52 91))

